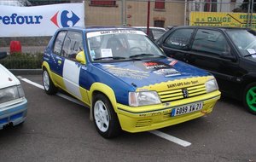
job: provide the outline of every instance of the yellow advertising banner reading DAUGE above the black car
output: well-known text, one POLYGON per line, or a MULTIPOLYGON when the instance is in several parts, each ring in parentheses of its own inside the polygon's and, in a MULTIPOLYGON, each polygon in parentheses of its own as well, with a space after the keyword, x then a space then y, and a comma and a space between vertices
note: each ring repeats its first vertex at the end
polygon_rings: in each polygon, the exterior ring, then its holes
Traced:
POLYGON ((252 29, 256 30, 256 14, 191 12, 189 26, 230 26, 247 27, 247 19, 252 20, 252 29))

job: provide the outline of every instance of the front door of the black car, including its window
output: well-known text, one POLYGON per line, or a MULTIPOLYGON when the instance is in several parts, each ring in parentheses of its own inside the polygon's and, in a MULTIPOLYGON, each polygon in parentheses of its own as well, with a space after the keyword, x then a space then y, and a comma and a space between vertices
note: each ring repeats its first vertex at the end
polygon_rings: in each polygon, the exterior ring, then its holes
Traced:
POLYGON ((221 30, 198 29, 187 59, 189 64, 211 72, 223 92, 234 92, 232 89, 238 86, 242 70, 236 51, 221 30))

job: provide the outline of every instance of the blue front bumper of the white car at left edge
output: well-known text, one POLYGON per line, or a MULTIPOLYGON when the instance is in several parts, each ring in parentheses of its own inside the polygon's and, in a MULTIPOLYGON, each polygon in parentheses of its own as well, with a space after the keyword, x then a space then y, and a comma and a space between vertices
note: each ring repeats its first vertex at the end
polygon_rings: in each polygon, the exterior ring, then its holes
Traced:
POLYGON ((0 130, 2 130, 3 127, 8 124, 16 125, 23 123, 26 120, 26 112, 26 98, 14 105, 10 105, 8 107, 0 107, 0 130))

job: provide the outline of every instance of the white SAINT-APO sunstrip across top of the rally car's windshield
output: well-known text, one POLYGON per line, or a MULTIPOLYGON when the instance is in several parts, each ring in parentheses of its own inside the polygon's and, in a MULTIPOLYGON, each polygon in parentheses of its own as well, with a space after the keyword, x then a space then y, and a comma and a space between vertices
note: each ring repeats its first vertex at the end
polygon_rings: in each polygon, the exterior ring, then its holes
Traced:
POLYGON ((143 31, 116 29, 116 30, 113 30, 113 31, 88 32, 87 33, 87 38, 92 38, 92 37, 101 36, 101 35, 108 35, 108 34, 140 34, 140 35, 146 35, 143 31))

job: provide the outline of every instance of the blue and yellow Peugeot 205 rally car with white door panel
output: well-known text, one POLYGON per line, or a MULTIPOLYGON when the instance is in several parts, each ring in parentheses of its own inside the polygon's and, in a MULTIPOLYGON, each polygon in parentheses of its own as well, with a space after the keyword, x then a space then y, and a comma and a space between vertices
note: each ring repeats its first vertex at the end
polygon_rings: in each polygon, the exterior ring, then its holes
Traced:
POLYGON ((209 72, 166 57, 134 28, 62 28, 42 67, 46 93, 61 88, 83 101, 106 138, 199 118, 220 98, 209 72))

